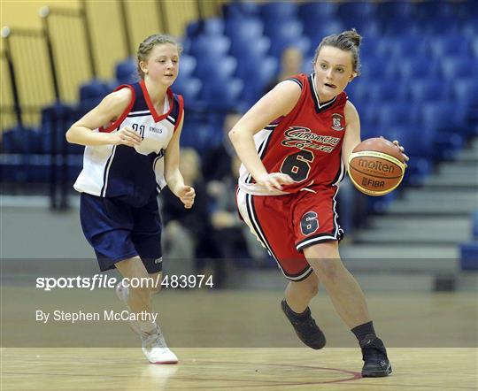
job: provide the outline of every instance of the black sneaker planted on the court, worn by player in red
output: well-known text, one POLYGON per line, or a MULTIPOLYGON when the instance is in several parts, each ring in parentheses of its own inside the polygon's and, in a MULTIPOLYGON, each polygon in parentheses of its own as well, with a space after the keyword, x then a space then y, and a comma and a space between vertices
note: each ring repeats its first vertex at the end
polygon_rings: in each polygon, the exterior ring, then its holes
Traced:
POLYGON ((387 357, 387 350, 380 338, 377 338, 374 334, 368 334, 360 341, 360 348, 364 360, 364 367, 362 368, 364 378, 389 376, 392 372, 391 365, 387 357))

